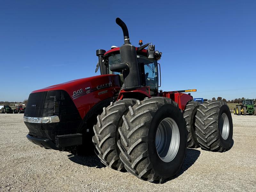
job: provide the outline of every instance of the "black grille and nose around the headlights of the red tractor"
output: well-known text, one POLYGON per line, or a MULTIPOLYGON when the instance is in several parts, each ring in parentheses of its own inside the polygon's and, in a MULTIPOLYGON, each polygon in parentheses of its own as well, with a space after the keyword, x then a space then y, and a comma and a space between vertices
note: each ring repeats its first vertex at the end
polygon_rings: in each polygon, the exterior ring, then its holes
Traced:
POLYGON ((76 133, 82 119, 66 91, 36 92, 29 95, 24 116, 45 117, 55 115, 59 116, 59 123, 25 122, 29 132, 34 133, 34 137, 48 138, 55 142, 56 135, 76 133))

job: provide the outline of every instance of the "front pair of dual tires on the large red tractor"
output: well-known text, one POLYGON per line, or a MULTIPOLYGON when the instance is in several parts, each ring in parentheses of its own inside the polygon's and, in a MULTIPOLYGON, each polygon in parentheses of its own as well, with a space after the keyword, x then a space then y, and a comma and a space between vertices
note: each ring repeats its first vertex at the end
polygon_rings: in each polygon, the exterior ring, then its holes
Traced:
POLYGON ((164 97, 127 101, 112 103, 98 116, 93 142, 101 162, 116 170, 124 167, 150 182, 173 177, 186 156, 187 130, 182 111, 164 97), (116 109, 121 103, 125 107, 116 109))

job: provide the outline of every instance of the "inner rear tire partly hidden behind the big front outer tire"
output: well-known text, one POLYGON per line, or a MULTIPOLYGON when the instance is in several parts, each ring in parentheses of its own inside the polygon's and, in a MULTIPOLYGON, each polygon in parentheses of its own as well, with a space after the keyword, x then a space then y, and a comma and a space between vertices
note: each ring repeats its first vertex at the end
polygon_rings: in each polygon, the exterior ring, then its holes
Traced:
POLYGON ((195 101, 190 101, 186 105, 183 117, 186 121, 186 126, 188 130, 188 148, 198 148, 199 143, 196 138, 195 133, 195 122, 196 122, 196 112, 199 108, 199 103, 195 101))

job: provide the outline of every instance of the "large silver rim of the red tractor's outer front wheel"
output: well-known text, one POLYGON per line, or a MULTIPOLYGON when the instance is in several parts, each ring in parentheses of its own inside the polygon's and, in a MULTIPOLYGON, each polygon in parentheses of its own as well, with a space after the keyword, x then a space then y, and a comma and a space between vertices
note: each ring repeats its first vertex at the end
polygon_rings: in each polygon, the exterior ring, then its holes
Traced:
POLYGON ((172 161, 180 146, 180 132, 176 122, 167 117, 161 121, 156 130, 156 151, 166 163, 172 161))

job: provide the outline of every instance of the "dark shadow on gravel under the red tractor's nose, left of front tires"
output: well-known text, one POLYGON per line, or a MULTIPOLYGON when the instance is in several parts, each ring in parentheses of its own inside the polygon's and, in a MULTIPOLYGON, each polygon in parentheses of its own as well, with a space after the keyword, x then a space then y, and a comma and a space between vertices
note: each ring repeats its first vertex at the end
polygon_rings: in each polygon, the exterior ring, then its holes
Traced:
POLYGON ((102 164, 100 162, 100 159, 98 158, 98 156, 94 155, 94 154, 89 154, 89 155, 74 155, 74 154, 70 154, 68 155, 68 159, 70 161, 73 161, 74 163, 80 164, 80 165, 84 165, 84 166, 88 166, 88 167, 96 167, 96 168, 103 168, 106 167, 106 165, 102 164))

